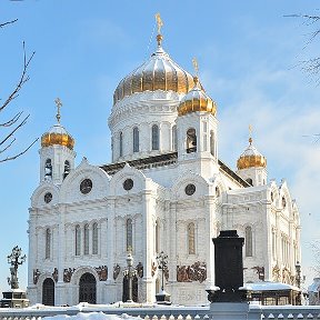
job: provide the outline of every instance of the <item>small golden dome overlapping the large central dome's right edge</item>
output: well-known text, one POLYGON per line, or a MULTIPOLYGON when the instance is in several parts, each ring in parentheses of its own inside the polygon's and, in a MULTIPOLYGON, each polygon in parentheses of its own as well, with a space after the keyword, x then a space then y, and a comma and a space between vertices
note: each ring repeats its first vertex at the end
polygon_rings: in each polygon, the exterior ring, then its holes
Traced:
POLYGON ((178 107, 178 114, 183 116, 187 113, 201 111, 201 112, 210 112, 216 117, 217 113, 216 102, 209 96, 207 96, 203 88, 201 88, 198 77, 194 77, 193 81, 196 84, 182 98, 178 107))

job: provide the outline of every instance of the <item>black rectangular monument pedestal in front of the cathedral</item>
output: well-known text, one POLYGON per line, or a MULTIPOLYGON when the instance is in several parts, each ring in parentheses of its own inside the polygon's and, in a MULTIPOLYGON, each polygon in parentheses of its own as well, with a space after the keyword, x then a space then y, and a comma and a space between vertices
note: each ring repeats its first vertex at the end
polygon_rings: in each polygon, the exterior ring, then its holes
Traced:
POLYGON ((216 288, 208 289, 210 302, 242 302, 247 300, 243 288, 242 247, 244 238, 237 230, 220 231, 214 244, 216 288))

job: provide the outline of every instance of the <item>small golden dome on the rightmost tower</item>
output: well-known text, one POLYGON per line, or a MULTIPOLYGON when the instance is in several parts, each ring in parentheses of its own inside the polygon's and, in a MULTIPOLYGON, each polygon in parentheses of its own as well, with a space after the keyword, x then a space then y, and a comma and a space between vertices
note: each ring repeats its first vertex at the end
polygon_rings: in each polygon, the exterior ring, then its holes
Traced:
POLYGON ((266 168, 267 159, 253 146, 252 139, 249 139, 249 146, 237 161, 238 170, 249 168, 266 168))

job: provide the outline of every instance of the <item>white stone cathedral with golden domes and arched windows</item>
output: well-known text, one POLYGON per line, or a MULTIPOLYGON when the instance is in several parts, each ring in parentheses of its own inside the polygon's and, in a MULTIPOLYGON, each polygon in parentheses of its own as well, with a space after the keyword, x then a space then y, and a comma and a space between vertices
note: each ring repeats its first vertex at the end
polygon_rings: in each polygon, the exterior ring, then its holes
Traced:
MULTIPOLYGON (((159 28, 160 29, 160 28, 159 28)), ((40 183, 29 209, 31 303, 112 303, 164 290, 180 304, 207 303, 214 284, 212 238, 244 237, 244 282, 292 283, 300 261, 300 218, 286 181, 268 181, 252 139, 233 171, 218 157, 217 104, 157 36, 154 53, 124 77, 109 117, 112 163, 76 167, 74 139, 60 123, 41 138, 40 183)))

